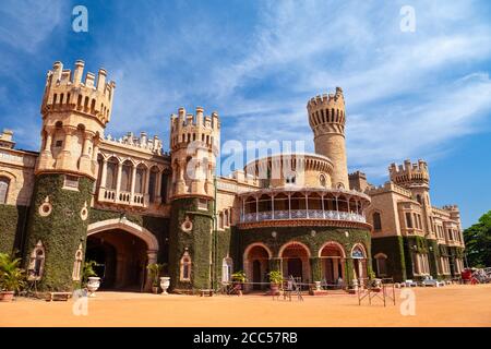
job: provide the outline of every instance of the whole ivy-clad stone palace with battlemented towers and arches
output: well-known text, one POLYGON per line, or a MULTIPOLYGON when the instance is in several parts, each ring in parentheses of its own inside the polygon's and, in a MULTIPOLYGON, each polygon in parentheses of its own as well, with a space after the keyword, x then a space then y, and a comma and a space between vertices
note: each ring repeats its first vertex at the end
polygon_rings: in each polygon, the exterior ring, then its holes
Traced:
POLYGON ((215 176, 217 112, 178 109, 164 152, 143 132, 105 134, 115 91, 104 69, 56 62, 39 151, 0 135, 0 252, 22 255, 37 289, 79 287, 84 261, 97 262, 101 288, 134 290, 165 263, 175 292, 216 289, 237 270, 253 290, 270 270, 349 287, 463 269, 459 210, 431 205, 424 161, 391 165, 381 186, 348 173, 342 88, 307 104, 315 154, 266 156, 227 177, 215 176))

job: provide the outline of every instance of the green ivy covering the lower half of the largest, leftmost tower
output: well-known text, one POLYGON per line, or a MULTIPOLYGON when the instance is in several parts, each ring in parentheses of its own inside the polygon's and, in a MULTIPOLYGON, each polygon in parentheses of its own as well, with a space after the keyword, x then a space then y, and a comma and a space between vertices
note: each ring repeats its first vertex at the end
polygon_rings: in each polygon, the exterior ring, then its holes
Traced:
POLYGON ((88 219, 82 219, 81 210, 85 204, 89 208, 94 182, 82 177, 75 191, 62 189, 63 181, 63 174, 40 174, 34 186, 24 263, 27 268, 31 252, 41 241, 46 251, 43 278, 37 285, 41 291, 73 290, 77 286, 72 281, 75 252, 81 243, 85 250, 88 219), (52 210, 41 217, 39 206, 48 196, 52 210))

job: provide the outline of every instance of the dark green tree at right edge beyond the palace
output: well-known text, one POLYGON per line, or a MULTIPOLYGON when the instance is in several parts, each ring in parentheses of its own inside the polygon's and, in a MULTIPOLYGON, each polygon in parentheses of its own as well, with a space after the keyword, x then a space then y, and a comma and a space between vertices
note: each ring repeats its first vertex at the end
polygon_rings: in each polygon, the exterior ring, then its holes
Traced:
POLYGON ((483 214, 477 224, 464 230, 464 240, 469 266, 491 266, 491 210, 483 214))

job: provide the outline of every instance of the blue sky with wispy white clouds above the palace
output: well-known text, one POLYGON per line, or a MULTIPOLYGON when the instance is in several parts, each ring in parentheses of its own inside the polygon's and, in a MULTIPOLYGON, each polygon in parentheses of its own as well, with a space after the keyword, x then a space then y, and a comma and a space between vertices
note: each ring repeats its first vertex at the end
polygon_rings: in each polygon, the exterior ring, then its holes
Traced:
POLYGON ((383 183, 423 158, 432 204, 463 225, 491 209, 489 1, 19 1, 0 7, 0 128, 38 149, 45 75, 56 60, 108 70, 107 132, 165 140, 180 106, 217 110, 221 139, 304 140, 307 100, 342 86, 349 170, 383 183), (72 9, 88 10, 88 33, 72 9), (416 32, 399 28, 403 5, 416 32))

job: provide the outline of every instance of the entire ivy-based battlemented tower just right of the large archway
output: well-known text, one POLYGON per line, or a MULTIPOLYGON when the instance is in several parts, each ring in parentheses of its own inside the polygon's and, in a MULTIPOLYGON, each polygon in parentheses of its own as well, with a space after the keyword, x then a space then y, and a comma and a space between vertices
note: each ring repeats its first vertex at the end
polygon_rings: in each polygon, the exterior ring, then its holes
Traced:
POLYGON ((195 116, 180 108, 177 116, 170 117, 169 272, 171 289, 178 292, 212 285, 214 176, 219 129, 218 115, 204 116, 201 107, 196 108, 195 116))

